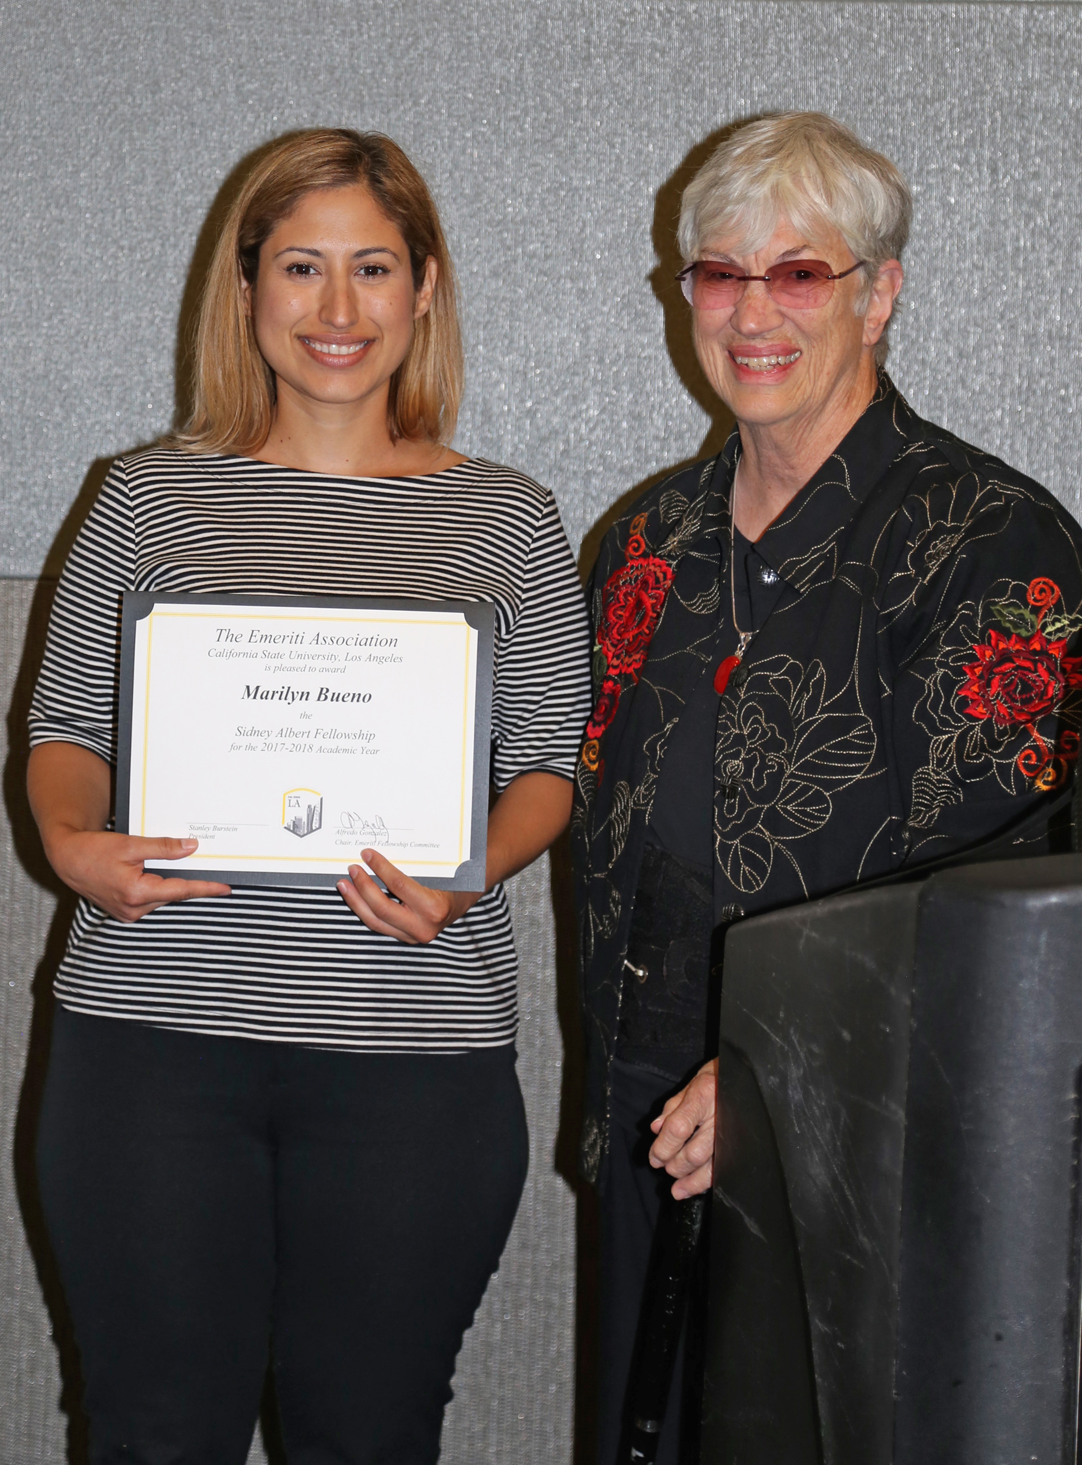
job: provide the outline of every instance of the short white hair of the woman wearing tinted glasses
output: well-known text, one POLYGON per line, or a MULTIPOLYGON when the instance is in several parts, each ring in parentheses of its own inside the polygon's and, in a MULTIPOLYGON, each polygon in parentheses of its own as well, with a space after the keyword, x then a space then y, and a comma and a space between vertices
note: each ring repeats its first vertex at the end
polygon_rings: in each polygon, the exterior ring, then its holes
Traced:
MULTIPOLYGON (((829 226, 868 265, 871 281, 909 237, 912 195, 895 164, 821 111, 782 111, 735 127, 684 189, 676 240, 684 261, 722 237, 754 253, 780 218, 795 229, 829 226)), ((886 333, 876 352, 887 355, 886 333)))

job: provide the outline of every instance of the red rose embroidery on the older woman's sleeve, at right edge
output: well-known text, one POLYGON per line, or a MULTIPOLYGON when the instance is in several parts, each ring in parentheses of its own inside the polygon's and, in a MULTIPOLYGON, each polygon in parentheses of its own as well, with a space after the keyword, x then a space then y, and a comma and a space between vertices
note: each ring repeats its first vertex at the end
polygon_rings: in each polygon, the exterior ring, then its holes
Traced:
POLYGON ((971 718, 991 718, 997 728, 1029 730, 1034 744, 1022 749, 1016 762, 1038 788, 1056 788, 1066 778, 1067 763, 1078 759, 1073 732, 1064 731, 1048 747, 1035 727, 1069 691, 1082 689, 1082 656, 1064 656, 1066 639, 1050 642, 1041 630, 1059 598, 1054 580, 1031 580, 1026 599, 1037 609, 1037 630, 1032 636, 990 630, 987 645, 974 646, 977 661, 965 668, 965 686, 958 691, 969 703, 965 712, 971 718))

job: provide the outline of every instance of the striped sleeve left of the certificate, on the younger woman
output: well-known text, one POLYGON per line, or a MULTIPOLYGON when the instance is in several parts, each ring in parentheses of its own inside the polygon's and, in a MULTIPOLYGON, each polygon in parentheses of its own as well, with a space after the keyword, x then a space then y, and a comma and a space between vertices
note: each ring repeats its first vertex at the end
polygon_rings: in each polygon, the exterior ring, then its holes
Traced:
POLYGON ((133 577, 135 520, 117 460, 60 576, 31 703, 31 747, 78 743, 116 762, 120 596, 133 577))

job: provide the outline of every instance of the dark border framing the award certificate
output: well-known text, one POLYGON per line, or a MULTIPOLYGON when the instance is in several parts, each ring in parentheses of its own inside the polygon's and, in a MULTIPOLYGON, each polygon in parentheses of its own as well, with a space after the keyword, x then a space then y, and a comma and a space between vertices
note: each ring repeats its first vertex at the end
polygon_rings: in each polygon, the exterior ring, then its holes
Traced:
MULTIPOLYGON (((470 858, 452 876, 419 876, 417 883, 438 891, 483 891, 489 823, 489 759, 492 741, 492 667, 495 608, 486 601, 408 601, 347 595, 182 595, 176 592, 124 590, 120 621, 120 715, 117 728, 116 828, 130 834, 132 718, 135 696, 135 628, 155 605, 236 605, 239 608, 287 608, 322 611, 452 611, 477 631, 473 722, 473 798, 470 806, 470 858)), ((155 873, 165 873, 157 872, 155 873)), ((300 873, 277 870, 190 870, 170 872, 186 880, 221 880, 225 885, 293 885, 334 889, 346 873, 300 873)))

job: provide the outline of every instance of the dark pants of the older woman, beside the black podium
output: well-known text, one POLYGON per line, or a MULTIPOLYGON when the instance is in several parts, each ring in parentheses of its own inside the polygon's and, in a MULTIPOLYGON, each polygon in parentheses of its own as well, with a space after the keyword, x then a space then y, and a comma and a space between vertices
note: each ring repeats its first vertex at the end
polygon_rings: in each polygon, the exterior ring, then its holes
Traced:
MULTIPOLYGON (((681 1084, 630 1064, 613 1062, 609 1110, 609 1154, 600 1188, 599 1295, 599 1411, 597 1462, 624 1465, 630 1459, 627 1403, 635 1354, 643 1292, 650 1269, 657 1216, 672 1179, 647 1163, 653 1141, 649 1124, 681 1084)), ((703 1316, 703 1272, 693 1285, 688 1326, 676 1354, 669 1408, 662 1428, 657 1465, 691 1462, 697 1456, 701 1364, 698 1339, 703 1316), (685 1354, 690 1348, 690 1365, 685 1354)))

